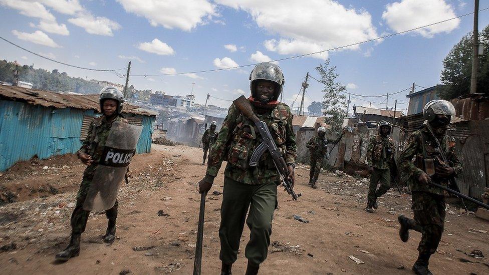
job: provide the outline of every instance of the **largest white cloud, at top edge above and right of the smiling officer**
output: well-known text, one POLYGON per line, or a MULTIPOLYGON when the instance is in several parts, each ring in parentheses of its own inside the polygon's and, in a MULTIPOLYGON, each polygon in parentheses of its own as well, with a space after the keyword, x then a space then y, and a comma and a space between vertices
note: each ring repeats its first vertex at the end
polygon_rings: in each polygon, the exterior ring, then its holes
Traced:
MULTIPOLYGON (((216 2, 248 12, 259 27, 278 35, 265 46, 282 55, 318 52, 377 37, 368 12, 346 8, 333 0, 310 0, 307 5, 296 0, 283 0, 280 5, 262 0, 216 2)), ((314 57, 326 59, 328 53, 314 57)))

